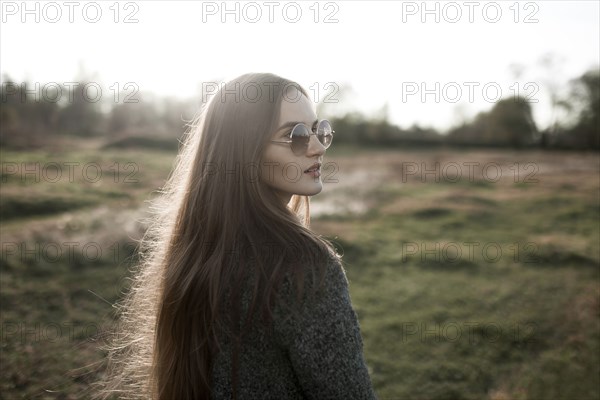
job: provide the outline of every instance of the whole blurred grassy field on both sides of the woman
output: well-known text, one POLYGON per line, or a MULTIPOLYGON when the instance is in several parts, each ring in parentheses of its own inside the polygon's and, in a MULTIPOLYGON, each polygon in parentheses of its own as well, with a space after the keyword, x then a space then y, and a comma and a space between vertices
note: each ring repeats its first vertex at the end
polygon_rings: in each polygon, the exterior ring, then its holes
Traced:
MULTIPOLYGON (((328 152, 380 399, 600 398, 598 153, 328 152)), ((2 151, 0 398, 81 398, 174 153, 2 151), (101 172, 99 172, 101 171, 101 172)))

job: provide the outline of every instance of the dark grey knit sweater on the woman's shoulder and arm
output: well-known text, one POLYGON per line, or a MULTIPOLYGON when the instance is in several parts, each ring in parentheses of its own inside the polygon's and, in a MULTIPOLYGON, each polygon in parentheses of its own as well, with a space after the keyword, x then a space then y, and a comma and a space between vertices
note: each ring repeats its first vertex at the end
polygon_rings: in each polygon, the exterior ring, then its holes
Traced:
MULTIPOLYGON (((290 277, 283 281, 280 298, 296 296, 290 277)), ((241 346, 238 399, 376 399, 348 280, 339 261, 327 266, 323 287, 316 300, 305 302, 298 314, 276 304, 273 335, 259 324, 253 326, 241 346)), ((305 293, 312 288, 307 278, 305 293)), ((247 297, 243 298, 245 312, 247 297)), ((212 399, 231 399, 230 343, 222 345, 212 377, 212 399)))

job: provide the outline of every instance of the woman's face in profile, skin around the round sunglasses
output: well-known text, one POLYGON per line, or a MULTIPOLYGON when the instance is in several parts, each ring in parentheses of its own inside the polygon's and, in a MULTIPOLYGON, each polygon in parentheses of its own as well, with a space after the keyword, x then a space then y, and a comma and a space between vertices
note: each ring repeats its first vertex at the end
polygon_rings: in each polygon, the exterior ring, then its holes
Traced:
MULTIPOLYGON (((316 129, 317 115, 310 100, 302 95, 299 100, 293 101, 298 96, 295 93, 284 96, 278 128, 272 133, 272 140, 289 140, 290 132, 297 123, 304 123, 311 131, 316 129)), ((313 196, 323 189, 321 168, 316 173, 305 171, 312 169, 315 163, 322 164, 324 154, 325 148, 316 135, 310 136, 306 152, 300 155, 292 152, 289 143, 269 142, 261 160, 261 179, 275 189, 284 204, 288 204, 294 194, 313 196)))

